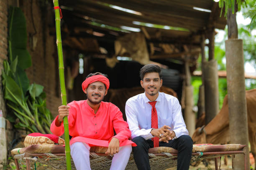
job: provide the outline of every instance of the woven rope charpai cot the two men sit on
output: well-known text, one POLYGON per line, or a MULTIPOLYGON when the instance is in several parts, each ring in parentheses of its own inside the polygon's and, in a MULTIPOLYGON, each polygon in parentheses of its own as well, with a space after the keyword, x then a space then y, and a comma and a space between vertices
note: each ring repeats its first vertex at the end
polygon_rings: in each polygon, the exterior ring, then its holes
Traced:
MULTIPOLYGON (((58 145, 55 145, 58 147, 58 145)), ((223 155, 231 155, 232 151, 243 150, 246 145, 230 144, 230 145, 211 145, 211 144, 200 144, 193 145, 192 150, 192 159, 191 163, 210 159, 217 158, 223 155), (221 153, 223 151, 231 151, 230 153, 221 153), (219 152, 212 155, 203 155, 206 152, 219 152)), ((31 146, 30 146, 31 147, 31 146)), ((34 148, 43 147, 43 146, 33 146, 34 148)), ((60 145, 59 145, 60 147, 60 145)), ((23 149, 23 148, 17 148, 23 149)), ((17 150, 16 149, 16 150, 17 150)), ((90 150, 90 165, 92 170, 109 170, 112 162, 112 157, 105 155, 106 147, 91 147, 90 150)), ((53 148, 52 148, 53 150, 53 148)), ((50 165, 52 168, 60 170, 65 169, 66 159, 64 154, 64 147, 62 148, 62 153, 53 154, 53 153, 34 153, 33 150, 29 147, 23 149, 23 154, 15 154, 12 151, 13 157, 15 159, 23 160, 33 160, 39 163, 50 165), (29 153, 28 153, 29 152, 29 153)), ((56 152, 56 151, 55 151, 56 152)), ((149 163, 151 170, 160 170, 177 166, 177 150, 168 147, 158 147, 150 148, 148 151, 149 163)), ((74 163, 72 160, 72 169, 75 170, 74 163)), ((126 166, 126 170, 136 170, 136 164, 133 159, 133 153, 131 153, 130 160, 126 166)))

